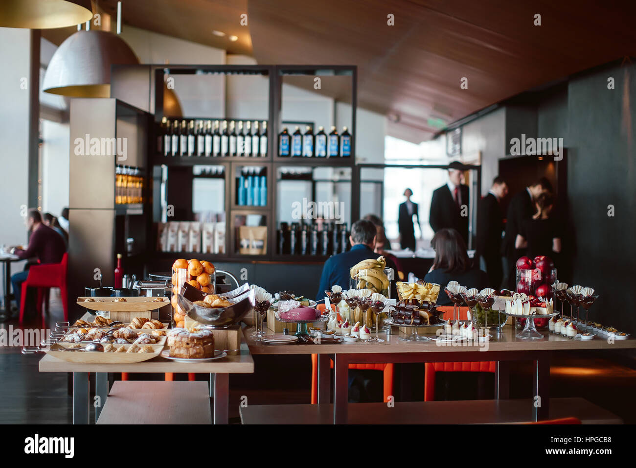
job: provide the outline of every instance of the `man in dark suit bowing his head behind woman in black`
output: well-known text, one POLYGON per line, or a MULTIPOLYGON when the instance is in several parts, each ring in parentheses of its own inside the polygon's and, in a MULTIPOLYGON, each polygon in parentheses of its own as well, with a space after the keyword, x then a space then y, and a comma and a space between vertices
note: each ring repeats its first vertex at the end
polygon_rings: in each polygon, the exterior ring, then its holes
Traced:
POLYGON ((536 213, 535 203, 539 195, 551 192, 552 184, 542 177, 510 199, 506 217, 506 235, 502 243, 502 255, 506 262, 502 288, 516 290, 516 261, 525 255, 525 249, 518 249, 515 246, 516 236, 522 233, 523 222, 536 213))

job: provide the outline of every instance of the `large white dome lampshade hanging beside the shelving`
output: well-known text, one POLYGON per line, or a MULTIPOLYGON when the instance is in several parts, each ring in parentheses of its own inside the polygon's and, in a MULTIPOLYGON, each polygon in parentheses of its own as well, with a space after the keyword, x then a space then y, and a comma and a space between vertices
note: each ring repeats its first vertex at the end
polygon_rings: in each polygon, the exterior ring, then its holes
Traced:
POLYGON ((139 64, 139 60, 112 32, 78 31, 53 54, 43 89, 69 97, 110 97, 114 64, 139 64))

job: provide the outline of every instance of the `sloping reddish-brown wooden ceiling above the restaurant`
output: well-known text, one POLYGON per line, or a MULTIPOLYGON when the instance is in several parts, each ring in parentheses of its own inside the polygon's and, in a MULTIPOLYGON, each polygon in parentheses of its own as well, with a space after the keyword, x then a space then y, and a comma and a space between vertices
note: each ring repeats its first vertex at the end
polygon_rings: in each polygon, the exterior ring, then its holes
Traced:
POLYGON ((261 64, 357 65, 359 106, 416 143, 515 94, 636 55, 633 0, 135 0, 123 17, 261 64))

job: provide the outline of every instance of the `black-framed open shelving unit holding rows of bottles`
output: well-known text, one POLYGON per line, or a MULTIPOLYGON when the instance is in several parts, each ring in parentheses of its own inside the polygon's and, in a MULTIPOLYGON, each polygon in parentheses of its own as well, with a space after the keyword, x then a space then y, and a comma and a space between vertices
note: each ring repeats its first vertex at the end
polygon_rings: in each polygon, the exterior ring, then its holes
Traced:
MULTIPOLYGON (((202 156, 164 156, 158 154, 156 148, 148 155, 148 167, 153 166, 195 166, 195 165, 216 165, 223 164, 225 170, 225 207, 226 207, 226 253, 209 254, 198 252, 157 252, 160 258, 202 258, 215 259, 228 262, 322 262, 328 257, 326 255, 284 255, 277 253, 277 169, 281 166, 303 166, 303 167, 355 167, 356 155, 356 104, 357 104, 357 67, 356 66, 225 66, 225 65, 174 65, 157 66, 150 89, 155 90, 155 114, 153 125, 153 136, 151 141, 156 141, 158 128, 163 117, 163 83, 165 74, 178 76, 179 74, 242 74, 261 75, 268 78, 268 151, 265 157, 202 157, 202 156), (321 157, 279 157, 278 135, 281 128, 282 115, 282 85, 284 77, 294 75, 307 76, 348 76, 351 80, 351 156, 342 158, 321 158, 321 157), (265 167, 267 176, 267 204, 266 206, 241 206, 236 199, 237 194, 237 171, 240 167, 261 166, 265 167), (237 225, 235 218, 237 215, 261 215, 266 218, 267 226, 267 249, 264 255, 243 255, 236 251, 237 246, 237 225)), ((169 117, 169 116, 167 116, 169 117)), ((235 120, 246 121, 250 116, 241 115, 233 117, 223 117, 214 119, 210 117, 177 117, 177 120, 235 120)), ((170 117, 169 117, 170 118, 170 117)), ((265 119, 252 119, 265 120, 265 119)), ((152 171, 149 171, 150 173, 152 171)), ((359 173, 352 170, 350 187, 358 187, 359 173)), ((346 220, 350 227, 352 220, 359 218, 359 190, 351 190, 351 219, 346 220)), ((153 230, 155 234, 156 230, 153 230)), ((152 239, 152 238, 151 238, 152 239)), ((156 245, 156 242, 149 242, 149 246, 156 245)))

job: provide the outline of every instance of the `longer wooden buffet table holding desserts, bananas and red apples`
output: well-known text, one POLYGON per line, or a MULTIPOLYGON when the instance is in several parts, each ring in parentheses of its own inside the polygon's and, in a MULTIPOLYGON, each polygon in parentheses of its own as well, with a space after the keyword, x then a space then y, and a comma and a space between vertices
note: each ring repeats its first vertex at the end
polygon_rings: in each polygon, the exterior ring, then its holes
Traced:
MULTIPOLYGON (((331 386, 331 364, 334 361, 334 397, 333 423, 349 422, 349 364, 371 363, 413 363, 413 362, 478 362, 496 361, 495 399, 508 400, 508 367, 513 361, 534 361, 534 380, 532 395, 541 398, 541 405, 532 405, 532 419, 545 420, 550 418, 550 357, 558 351, 584 350, 619 350, 636 348, 635 339, 616 340, 607 343, 607 339, 595 337, 590 341, 572 340, 544 332, 543 340, 527 341, 518 339, 518 330, 511 326, 504 327, 500 336, 495 336, 488 342, 472 343, 468 345, 441 344, 436 341, 408 342, 399 339, 400 334, 394 329, 384 343, 339 343, 339 344, 305 344, 270 345, 254 341, 245 333, 247 345, 252 354, 317 354, 318 355, 318 405, 329 405, 331 386)), ((268 334, 272 334, 268 330, 268 334)), ((375 336, 374 333, 371 336, 375 336)), ((404 335, 401 335, 404 336, 404 335)), ((528 404, 531 404, 529 402, 528 404)), ((245 413, 252 409, 245 409, 245 413)), ((241 409, 242 415, 244 413, 241 409)), ((331 406, 329 406, 331 412, 331 406)), ((280 413, 279 413, 280 414, 280 413)), ((298 413, 301 415, 302 413, 298 413)), ((530 414, 530 412, 529 412, 530 414)))

